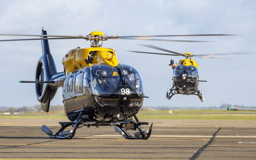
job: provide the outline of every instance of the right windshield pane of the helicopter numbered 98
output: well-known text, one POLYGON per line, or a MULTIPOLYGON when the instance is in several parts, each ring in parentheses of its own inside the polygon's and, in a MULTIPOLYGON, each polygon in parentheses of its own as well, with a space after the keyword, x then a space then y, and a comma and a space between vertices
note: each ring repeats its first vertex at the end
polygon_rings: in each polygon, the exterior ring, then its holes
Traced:
POLYGON ((129 85, 139 96, 142 96, 144 94, 143 87, 140 75, 137 70, 124 64, 119 64, 117 67, 121 71, 125 84, 129 85))

